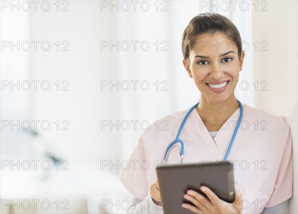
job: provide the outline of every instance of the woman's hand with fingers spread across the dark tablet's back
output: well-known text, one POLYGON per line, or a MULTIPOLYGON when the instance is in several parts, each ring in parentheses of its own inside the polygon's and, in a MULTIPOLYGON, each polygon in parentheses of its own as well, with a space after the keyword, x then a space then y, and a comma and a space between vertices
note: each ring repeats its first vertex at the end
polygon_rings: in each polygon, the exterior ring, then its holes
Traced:
POLYGON ((200 190, 206 194, 208 199, 194 190, 188 190, 184 198, 191 201, 195 206, 190 204, 182 204, 182 207, 196 214, 242 214, 240 203, 242 194, 235 191, 235 201, 227 203, 212 192, 208 187, 202 186, 200 190))

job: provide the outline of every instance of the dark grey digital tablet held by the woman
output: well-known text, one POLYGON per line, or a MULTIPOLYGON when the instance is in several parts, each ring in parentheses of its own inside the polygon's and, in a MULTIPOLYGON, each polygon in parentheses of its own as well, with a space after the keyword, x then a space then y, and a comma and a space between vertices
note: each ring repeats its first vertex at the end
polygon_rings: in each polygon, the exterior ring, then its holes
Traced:
POLYGON ((232 162, 205 161, 201 164, 158 165, 156 172, 164 214, 193 214, 181 207, 183 203, 193 205, 184 199, 184 194, 192 189, 206 196, 200 190, 203 185, 228 203, 235 199, 232 162))

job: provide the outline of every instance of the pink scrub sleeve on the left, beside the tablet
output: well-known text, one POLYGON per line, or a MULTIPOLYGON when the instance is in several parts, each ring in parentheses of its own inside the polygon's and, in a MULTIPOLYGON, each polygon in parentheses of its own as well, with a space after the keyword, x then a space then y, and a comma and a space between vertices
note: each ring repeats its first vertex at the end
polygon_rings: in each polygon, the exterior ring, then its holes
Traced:
POLYGON ((126 167, 122 167, 120 180, 125 188, 139 199, 144 199, 148 194, 147 170, 141 168, 141 162, 146 160, 144 140, 141 137, 134 152, 127 160, 126 167))

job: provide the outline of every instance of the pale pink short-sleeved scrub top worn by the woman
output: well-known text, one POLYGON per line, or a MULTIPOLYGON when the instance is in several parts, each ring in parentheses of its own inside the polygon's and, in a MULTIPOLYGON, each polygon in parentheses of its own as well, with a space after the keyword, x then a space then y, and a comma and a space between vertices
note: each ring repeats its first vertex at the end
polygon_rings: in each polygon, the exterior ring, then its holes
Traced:
MULTIPOLYGON (((155 167, 176 138, 189 109, 160 119, 158 126, 152 124, 141 136, 120 174, 121 182, 135 197, 143 200, 148 195, 157 179, 155 167)), ((240 108, 222 122, 212 139, 194 109, 180 134, 184 163, 223 160, 239 115, 240 108)), ((179 150, 180 143, 176 143, 168 151, 169 164, 180 163, 179 150)), ((292 136, 284 118, 243 104, 242 122, 227 160, 234 164, 234 181, 242 193, 243 214, 260 214, 264 208, 278 205, 293 195, 292 136)))

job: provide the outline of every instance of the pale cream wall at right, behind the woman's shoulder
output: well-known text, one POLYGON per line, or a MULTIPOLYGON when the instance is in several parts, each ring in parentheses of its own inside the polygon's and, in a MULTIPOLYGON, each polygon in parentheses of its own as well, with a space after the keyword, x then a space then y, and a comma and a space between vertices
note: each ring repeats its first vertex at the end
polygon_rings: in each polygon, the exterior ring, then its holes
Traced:
MULTIPOLYGON (((254 51, 254 75, 268 82, 267 91, 255 92, 256 108, 283 116, 293 137, 294 196, 290 212, 298 213, 297 193, 297 1, 266 1, 268 11, 253 12, 253 40, 268 43, 268 51, 254 51)), ((263 4, 262 6, 264 6, 263 4)), ((259 5, 260 6, 260 5, 259 5)), ((260 7, 259 7, 260 8, 260 7)), ((260 47, 260 46, 259 46, 260 47)), ((259 85, 259 86, 264 86, 259 85)))

